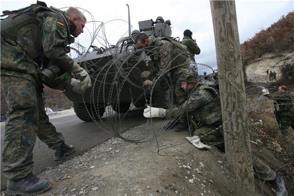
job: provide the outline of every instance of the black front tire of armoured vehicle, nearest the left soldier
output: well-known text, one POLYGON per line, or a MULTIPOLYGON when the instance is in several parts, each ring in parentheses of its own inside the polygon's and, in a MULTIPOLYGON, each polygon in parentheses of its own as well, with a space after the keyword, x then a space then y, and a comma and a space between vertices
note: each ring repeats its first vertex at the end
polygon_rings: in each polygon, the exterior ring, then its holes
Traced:
MULTIPOLYGON (((96 121, 99 120, 100 116, 98 116, 98 114, 95 111, 93 111, 93 113, 91 112, 90 103, 86 103, 86 106, 88 110, 85 107, 85 103, 73 102, 73 110, 75 110, 76 115, 79 117, 79 119, 86 122, 92 122, 93 121, 92 117, 94 117, 96 121), (88 111, 91 113, 91 115, 94 115, 94 116, 91 117, 88 111)), ((99 114, 101 116, 103 115, 104 110, 105 109, 103 107, 99 108, 99 114)))

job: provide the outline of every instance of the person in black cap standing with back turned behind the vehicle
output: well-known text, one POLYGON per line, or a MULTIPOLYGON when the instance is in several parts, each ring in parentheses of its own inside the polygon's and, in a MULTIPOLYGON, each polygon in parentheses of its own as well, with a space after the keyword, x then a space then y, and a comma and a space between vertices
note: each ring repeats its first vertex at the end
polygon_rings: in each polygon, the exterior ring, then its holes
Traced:
POLYGON ((183 32, 183 38, 181 43, 185 46, 187 46, 187 49, 190 53, 190 57, 192 59, 192 61, 195 62, 195 55, 199 55, 200 54, 200 48, 198 47, 198 45, 196 44, 196 40, 193 40, 192 38, 192 31, 189 29, 186 29, 183 32))

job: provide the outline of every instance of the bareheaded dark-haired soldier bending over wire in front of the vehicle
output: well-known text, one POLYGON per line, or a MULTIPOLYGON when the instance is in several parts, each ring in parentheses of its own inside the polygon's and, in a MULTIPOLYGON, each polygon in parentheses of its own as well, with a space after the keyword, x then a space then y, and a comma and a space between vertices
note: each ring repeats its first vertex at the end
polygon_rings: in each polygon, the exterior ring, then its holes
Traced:
MULTIPOLYGON (((174 92, 176 95, 176 102, 181 104, 187 99, 187 93, 181 89, 180 78, 185 74, 185 69, 191 64, 191 58, 187 47, 171 40, 168 37, 157 37, 148 36, 146 33, 139 33, 135 38, 135 43, 137 48, 143 49, 147 48, 150 52, 148 55, 152 58, 155 67, 158 67, 158 75, 163 74, 160 82, 164 83, 169 81, 169 73, 171 75, 171 81, 174 85, 174 92)), ((143 71, 142 77, 146 79, 150 75, 156 74, 156 71, 143 71)), ((196 75, 196 74, 195 74, 196 75)), ((144 86, 152 86, 153 81, 145 80, 144 86)), ((187 130, 188 125, 181 122, 175 129, 177 130, 187 130)))

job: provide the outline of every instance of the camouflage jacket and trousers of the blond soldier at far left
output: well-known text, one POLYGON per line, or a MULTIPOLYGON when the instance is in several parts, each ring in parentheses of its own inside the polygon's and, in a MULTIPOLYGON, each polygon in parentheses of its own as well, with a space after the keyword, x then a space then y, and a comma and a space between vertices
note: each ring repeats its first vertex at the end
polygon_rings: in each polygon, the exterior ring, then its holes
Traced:
POLYGON ((1 22, 1 87, 9 107, 3 173, 12 180, 32 172, 36 136, 53 149, 64 142, 45 112, 38 73, 49 62, 63 71, 71 71, 73 60, 66 55, 66 46, 71 42, 72 26, 68 26, 70 19, 64 12, 52 7, 52 11, 47 7, 42 9, 35 13, 33 22, 18 29, 9 29, 11 16, 1 22))

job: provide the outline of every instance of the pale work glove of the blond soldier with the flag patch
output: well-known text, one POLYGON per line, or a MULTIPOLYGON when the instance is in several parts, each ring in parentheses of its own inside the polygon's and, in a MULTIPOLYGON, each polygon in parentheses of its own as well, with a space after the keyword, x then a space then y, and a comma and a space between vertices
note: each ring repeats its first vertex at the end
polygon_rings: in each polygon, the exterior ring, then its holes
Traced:
POLYGON ((72 73, 76 74, 77 79, 81 81, 81 92, 85 92, 87 88, 90 88, 92 86, 89 74, 77 62, 73 62, 71 71, 72 73))

